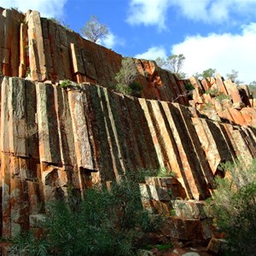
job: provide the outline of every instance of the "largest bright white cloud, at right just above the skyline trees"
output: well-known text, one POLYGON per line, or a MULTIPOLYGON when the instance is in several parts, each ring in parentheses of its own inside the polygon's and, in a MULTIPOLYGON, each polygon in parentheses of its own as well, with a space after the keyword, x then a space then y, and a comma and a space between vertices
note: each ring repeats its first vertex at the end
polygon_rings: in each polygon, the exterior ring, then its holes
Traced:
POLYGON ((245 83, 256 80, 256 23, 242 26, 241 34, 201 35, 185 38, 183 43, 172 47, 172 54, 186 57, 183 72, 192 75, 207 68, 216 68, 225 77, 231 69, 239 72, 245 83))

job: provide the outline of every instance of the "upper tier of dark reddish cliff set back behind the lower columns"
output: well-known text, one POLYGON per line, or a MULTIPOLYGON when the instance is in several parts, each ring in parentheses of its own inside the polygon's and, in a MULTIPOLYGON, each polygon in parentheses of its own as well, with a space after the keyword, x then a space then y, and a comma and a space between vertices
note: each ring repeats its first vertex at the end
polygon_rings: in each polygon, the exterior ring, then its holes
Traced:
MULTIPOLYGON (((37 11, 22 15, 15 9, 0 10, 0 73, 32 81, 90 82, 109 87, 122 56, 94 44, 78 33, 41 18, 37 11)), ((183 81, 156 67, 153 61, 135 60, 143 97, 172 101, 185 91, 183 81)), ((179 98, 177 102, 187 103, 179 98)))

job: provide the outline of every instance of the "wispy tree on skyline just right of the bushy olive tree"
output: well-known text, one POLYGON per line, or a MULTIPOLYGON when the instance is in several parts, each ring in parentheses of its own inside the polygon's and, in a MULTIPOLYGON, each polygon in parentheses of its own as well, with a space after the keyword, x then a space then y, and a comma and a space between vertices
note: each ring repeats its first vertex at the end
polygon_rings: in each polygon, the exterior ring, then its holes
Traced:
POLYGON ((175 73, 179 79, 184 79, 186 74, 181 72, 185 56, 180 55, 171 55, 167 57, 165 60, 164 58, 158 57, 155 61, 159 67, 166 67, 166 69, 170 70, 172 73, 175 73))

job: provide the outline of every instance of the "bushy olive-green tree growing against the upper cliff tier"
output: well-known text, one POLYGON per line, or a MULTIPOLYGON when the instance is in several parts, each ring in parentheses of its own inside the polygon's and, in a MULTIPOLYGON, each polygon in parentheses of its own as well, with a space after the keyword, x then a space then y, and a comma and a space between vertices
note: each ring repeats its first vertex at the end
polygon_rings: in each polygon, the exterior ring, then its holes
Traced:
POLYGON ((141 90, 139 84, 135 82, 139 73, 136 64, 131 58, 124 58, 122 60, 122 67, 119 73, 116 74, 115 79, 118 82, 116 89, 124 94, 137 94, 141 90))

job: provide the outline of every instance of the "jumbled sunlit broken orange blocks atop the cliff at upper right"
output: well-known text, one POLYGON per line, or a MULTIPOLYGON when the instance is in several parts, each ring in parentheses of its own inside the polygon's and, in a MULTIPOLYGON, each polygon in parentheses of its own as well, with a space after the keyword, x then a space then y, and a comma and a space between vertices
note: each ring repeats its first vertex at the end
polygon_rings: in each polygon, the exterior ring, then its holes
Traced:
POLYGON ((256 127, 256 99, 246 84, 237 85, 219 74, 216 79, 199 81, 192 77, 189 80, 195 88, 191 106, 211 119, 256 127))

